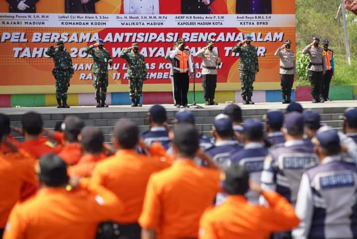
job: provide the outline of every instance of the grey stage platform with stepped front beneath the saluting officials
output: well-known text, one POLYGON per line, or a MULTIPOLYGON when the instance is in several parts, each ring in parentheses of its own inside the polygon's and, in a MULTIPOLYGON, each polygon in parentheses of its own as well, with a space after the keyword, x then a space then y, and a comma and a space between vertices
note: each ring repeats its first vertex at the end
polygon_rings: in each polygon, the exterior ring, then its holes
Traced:
MULTIPOLYGON (((334 128, 341 129, 342 120, 340 116, 349 107, 357 107, 356 100, 332 101, 325 103, 299 102, 304 109, 314 109, 321 114, 321 121, 334 128)), ((198 129, 205 135, 210 134, 213 118, 221 113, 228 104, 219 104, 217 106, 205 106, 203 108, 186 108, 191 110, 196 116, 198 129)), ((270 109, 285 110, 288 106, 282 103, 256 103, 254 105, 238 104, 243 110, 243 118, 262 118, 270 109)), ((105 135, 105 141, 109 142, 112 135, 113 126, 120 118, 132 119, 140 127, 140 131, 149 129, 146 113, 152 105, 143 105, 143 107, 130 107, 123 105, 110 106, 108 108, 96 108, 94 106, 74 106, 69 109, 58 109, 56 107, 20 107, 20 108, 0 108, 0 112, 9 115, 11 125, 21 126, 21 115, 28 111, 36 111, 42 114, 44 126, 54 128, 56 122, 62 121, 68 115, 77 115, 85 121, 87 126, 100 127, 105 135)), ((176 111, 180 110, 172 104, 163 105, 168 111, 169 124, 175 117, 176 111)), ((21 137, 19 137, 21 140, 21 137)))

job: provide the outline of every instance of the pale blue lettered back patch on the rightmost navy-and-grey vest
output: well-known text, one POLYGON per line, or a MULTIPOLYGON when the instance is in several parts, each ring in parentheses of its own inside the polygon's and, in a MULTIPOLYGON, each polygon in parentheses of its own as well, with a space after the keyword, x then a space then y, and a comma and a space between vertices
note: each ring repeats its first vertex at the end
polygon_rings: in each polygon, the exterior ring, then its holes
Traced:
POLYGON ((320 177, 322 189, 330 189, 336 187, 351 187, 355 185, 355 177, 352 174, 338 174, 320 177))

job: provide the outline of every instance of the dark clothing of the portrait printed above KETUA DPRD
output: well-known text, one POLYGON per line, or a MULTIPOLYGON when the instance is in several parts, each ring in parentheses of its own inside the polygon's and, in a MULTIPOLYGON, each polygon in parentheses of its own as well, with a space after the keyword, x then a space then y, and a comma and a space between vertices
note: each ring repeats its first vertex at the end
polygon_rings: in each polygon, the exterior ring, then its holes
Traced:
POLYGON ((237 14, 271 14, 271 0, 237 0, 237 14))

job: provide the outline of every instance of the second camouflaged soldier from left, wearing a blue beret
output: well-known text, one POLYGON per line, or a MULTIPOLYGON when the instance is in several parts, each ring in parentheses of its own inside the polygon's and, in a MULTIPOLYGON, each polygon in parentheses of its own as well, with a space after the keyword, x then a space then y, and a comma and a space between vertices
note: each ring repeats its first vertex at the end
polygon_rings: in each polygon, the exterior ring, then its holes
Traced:
POLYGON ((96 88, 96 100, 98 107, 108 107, 105 103, 107 98, 108 87, 108 64, 112 66, 113 60, 109 53, 104 48, 104 41, 98 39, 93 45, 90 45, 85 52, 93 57, 93 86, 96 88), (98 46, 96 48, 96 46, 98 46))

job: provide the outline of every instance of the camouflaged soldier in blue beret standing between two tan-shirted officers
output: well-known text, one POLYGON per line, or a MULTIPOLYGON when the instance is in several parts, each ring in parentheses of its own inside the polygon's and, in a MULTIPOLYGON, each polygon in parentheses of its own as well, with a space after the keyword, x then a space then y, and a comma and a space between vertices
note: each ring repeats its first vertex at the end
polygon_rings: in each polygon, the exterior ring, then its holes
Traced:
POLYGON ((250 43, 251 35, 245 35, 245 39, 238 43, 233 52, 239 53, 239 76, 241 82, 240 94, 243 98, 243 104, 254 104, 251 101, 253 95, 253 82, 255 74, 259 72, 257 49, 250 43), (245 43, 245 44, 244 44, 245 43))

